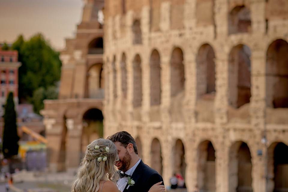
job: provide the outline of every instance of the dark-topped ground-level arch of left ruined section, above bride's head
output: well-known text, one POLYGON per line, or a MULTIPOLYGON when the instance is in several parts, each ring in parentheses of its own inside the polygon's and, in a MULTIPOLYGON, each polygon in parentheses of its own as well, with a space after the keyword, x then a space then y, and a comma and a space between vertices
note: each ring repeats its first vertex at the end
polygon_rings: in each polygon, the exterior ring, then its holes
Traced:
POLYGON ((103 137, 103 119, 102 111, 96 108, 89 109, 84 113, 82 118, 81 158, 89 143, 103 137))

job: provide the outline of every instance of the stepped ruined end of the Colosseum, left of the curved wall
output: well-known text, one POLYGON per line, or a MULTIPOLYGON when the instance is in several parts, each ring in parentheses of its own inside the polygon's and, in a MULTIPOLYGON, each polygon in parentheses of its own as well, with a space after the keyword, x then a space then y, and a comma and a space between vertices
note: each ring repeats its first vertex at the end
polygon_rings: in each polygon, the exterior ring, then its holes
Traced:
POLYGON ((92 140, 103 135, 103 25, 98 14, 104 0, 85 0, 76 37, 61 52, 58 100, 44 101, 49 169, 74 171, 92 140))

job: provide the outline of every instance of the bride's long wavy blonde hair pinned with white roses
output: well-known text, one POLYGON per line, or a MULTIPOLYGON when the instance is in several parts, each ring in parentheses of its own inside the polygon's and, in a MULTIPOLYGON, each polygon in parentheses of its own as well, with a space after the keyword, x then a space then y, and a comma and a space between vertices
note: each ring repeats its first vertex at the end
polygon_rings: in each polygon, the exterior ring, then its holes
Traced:
POLYGON ((98 139, 87 146, 85 156, 78 169, 76 180, 72 184, 73 192, 97 192, 100 188, 99 182, 110 180, 116 182, 119 174, 116 161, 119 160, 115 144, 106 139, 98 139), (99 149, 97 149, 99 146, 99 149), (109 147, 109 152, 105 150, 109 147), (107 157, 107 161, 98 161, 99 157, 107 157))

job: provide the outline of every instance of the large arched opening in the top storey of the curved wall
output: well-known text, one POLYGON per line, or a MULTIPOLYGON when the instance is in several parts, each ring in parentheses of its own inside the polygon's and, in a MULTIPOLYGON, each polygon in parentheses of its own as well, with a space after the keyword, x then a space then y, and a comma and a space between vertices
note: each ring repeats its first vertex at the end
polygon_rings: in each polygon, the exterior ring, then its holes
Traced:
POLYGON ((245 5, 234 7, 228 15, 228 21, 229 34, 250 32, 250 9, 245 7, 245 5))

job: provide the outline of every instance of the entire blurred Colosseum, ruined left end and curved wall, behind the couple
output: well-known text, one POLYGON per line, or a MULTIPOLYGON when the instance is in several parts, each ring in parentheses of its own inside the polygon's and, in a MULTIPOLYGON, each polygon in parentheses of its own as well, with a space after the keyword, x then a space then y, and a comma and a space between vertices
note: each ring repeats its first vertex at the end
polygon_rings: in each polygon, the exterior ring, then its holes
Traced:
POLYGON ((103 120, 104 138, 130 132, 167 185, 180 173, 189 192, 287 192, 288 1, 102 3, 85 0, 59 100, 45 102, 50 167, 75 169, 103 120), (103 57, 85 21, 101 9, 103 57))

